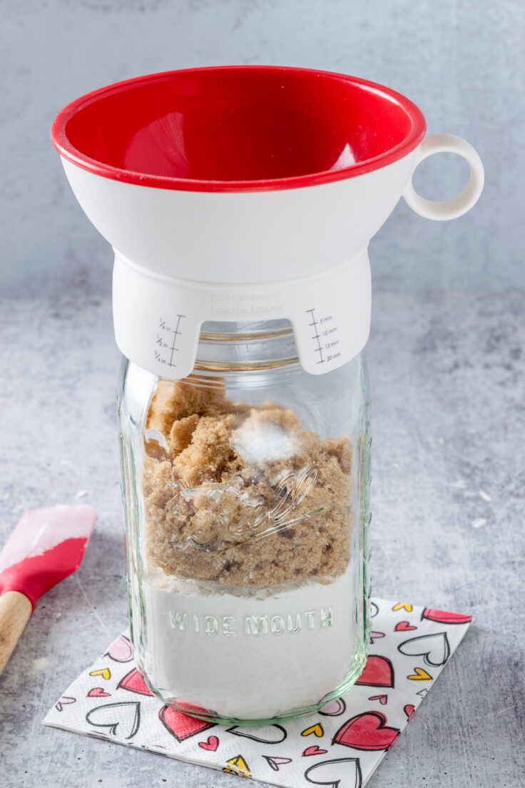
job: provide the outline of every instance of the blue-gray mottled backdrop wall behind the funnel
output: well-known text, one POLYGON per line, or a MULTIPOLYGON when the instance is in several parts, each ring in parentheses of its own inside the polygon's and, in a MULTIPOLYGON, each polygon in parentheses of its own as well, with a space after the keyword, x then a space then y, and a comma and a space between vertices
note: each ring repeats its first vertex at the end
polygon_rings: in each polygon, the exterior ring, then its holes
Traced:
MULTIPOLYGON (((375 80, 415 101, 431 132, 478 149, 479 205, 443 225, 401 203, 372 242, 376 289, 525 286, 523 0, 0 0, 0 18, 4 296, 109 292, 109 250, 50 144, 58 110, 116 80, 225 63, 375 80)), ((433 199, 451 196, 466 166, 434 159, 416 185, 433 199)))

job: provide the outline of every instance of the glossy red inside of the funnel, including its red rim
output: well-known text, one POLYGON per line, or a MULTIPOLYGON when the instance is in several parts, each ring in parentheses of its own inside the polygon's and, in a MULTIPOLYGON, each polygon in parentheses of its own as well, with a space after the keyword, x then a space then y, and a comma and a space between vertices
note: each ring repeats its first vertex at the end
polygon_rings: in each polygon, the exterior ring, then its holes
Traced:
POLYGON ((352 76, 228 66, 142 76, 87 94, 54 121, 62 156, 160 188, 248 191, 353 177, 408 154, 425 121, 352 76))

